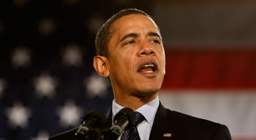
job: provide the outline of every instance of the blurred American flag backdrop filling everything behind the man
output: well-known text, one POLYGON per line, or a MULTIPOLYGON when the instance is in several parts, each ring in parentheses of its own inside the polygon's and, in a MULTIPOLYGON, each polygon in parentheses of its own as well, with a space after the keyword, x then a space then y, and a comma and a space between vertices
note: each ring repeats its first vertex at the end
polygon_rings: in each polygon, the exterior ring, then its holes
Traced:
POLYGON ((93 69, 94 38, 123 8, 152 15, 163 37, 162 103, 256 139, 256 2, 0 1, 0 139, 48 139, 107 113, 112 87, 93 69))

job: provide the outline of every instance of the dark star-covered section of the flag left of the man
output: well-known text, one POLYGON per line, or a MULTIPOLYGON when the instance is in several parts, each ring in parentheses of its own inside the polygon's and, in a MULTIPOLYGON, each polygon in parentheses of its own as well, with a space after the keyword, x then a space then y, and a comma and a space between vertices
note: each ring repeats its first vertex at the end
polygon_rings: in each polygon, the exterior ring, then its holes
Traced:
POLYGON ((0 139, 48 139, 107 113, 113 92, 93 68, 94 38, 123 8, 145 1, 0 2, 0 139), (111 8, 110 8, 111 7, 111 8))

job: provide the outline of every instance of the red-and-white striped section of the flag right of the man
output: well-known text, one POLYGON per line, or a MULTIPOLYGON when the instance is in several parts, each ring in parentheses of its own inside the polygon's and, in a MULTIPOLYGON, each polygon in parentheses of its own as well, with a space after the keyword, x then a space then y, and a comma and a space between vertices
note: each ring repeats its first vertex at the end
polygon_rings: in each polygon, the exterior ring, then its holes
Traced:
POLYGON ((232 139, 256 139, 256 3, 162 1, 154 13, 166 53, 163 105, 225 124, 232 139))

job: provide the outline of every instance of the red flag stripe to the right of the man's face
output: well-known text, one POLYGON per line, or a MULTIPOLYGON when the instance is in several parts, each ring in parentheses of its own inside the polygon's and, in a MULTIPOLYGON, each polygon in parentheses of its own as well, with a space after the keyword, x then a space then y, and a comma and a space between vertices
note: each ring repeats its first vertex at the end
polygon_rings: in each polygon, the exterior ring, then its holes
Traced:
POLYGON ((162 89, 256 89, 256 50, 166 50, 162 89))

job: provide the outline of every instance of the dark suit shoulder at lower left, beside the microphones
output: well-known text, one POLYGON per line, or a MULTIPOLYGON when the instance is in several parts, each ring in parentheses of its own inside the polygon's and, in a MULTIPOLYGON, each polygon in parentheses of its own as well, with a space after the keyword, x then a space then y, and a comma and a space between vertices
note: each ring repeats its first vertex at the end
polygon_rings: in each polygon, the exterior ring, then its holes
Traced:
POLYGON ((71 139, 76 139, 75 138, 75 133, 77 132, 77 128, 73 128, 71 130, 68 130, 66 132, 60 133, 58 135, 52 136, 49 138, 49 140, 71 140, 71 139))

